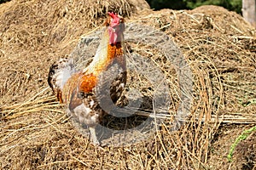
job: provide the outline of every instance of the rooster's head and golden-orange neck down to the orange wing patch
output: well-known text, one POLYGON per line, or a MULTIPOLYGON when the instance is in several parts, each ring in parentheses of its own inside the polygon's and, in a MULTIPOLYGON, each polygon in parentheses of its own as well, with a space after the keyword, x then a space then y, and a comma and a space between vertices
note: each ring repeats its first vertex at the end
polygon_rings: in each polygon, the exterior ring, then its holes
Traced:
POLYGON ((123 49, 125 24, 124 19, 117 14, 108 13, 105 22, 107 30, 104 32, 102 41, 96 50, 94 59, 90 65, 82 72, 80 78, 79 91, 89 93, 96 86, 97 77, 102 71, 106 71, 108 65, 117 59, 119 64, 125 69, 125 56, 123 49))

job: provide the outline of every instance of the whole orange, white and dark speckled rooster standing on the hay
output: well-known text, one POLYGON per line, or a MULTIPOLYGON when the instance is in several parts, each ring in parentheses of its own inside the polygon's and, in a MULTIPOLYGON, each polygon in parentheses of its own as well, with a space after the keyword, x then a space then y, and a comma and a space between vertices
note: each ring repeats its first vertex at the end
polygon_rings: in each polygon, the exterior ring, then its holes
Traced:
POLYGON ((60 59, 50 66, 48 77, 49 87, 59 102, 67 105, 68 114, 89 127, 94 144, 100 144, 96 124, 111 110, 108 106, 116 104, 126 83, 124 19, 108 12, 105 26, 90 65, 76 71, 73 59, 60 59))

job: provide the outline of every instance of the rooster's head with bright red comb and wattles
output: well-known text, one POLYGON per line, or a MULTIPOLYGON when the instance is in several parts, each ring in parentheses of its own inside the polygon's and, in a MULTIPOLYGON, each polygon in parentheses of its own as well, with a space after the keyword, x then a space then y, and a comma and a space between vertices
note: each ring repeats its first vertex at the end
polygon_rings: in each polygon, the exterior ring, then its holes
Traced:
POLYGON ((108 12, 108 19, 106 20, 108 26, 109 43, 116 44, 122 42, 125 31, 124 18, 118 14, 108 12))

